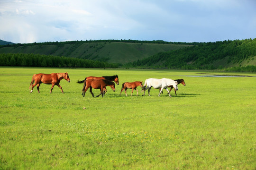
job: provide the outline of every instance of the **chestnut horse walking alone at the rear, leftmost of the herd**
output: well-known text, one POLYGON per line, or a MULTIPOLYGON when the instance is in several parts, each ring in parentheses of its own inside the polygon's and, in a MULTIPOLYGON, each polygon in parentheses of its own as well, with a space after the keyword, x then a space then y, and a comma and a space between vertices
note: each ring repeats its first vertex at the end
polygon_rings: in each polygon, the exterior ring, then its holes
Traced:
POLYGON ((61 92, 63 93, 62 87, 59 85, 60 81, 62 79, 67 80, 67 82, 70 82, 68 73, 52 73, 52 74, 34 74, 32 77, 32 81, 30 83, 29 88, 32 86, 30 93, 33 92, 33 88, 37 85, 37 91, 39 92, 39 86, 41 85, 41 83, 44 83, 46 85, 52 85, 51 91, 50 93, 52 93, 53 87, 55 85, 57 85, 58 87, 60 87, 61 92), (32 85, 35 82, 34 85, 32 85))

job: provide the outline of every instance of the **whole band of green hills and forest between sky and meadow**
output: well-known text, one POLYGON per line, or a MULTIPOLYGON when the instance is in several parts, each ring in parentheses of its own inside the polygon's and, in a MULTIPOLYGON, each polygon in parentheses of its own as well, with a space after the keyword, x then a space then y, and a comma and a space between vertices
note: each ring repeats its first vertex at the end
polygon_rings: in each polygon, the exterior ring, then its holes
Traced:
POLYGON ((97 40, 0 46, 0 66, 256 71, 255 57, 256 39, 192 43, 97 40))

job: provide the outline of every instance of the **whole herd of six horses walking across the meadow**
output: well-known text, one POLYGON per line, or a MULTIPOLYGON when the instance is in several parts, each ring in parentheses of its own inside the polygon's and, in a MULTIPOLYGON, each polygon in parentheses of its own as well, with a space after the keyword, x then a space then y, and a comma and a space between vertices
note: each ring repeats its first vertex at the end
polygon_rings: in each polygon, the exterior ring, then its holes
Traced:
MULTIPOLYGON (((60 89, 61 92, 63 92, 62 87, 60 86, 60 81, 62 79, 65 79, 67 82, 70 82, 70 78, 68 76, 68 73, 52 73, 52 74, 34 74, 30 83, 29 88, 31 87, 31 91, 30 93, 33 92, 33 88, 37 85, 37 91, 39 92, 39 86, 44 83, 46 85, 52 85, 51 91, 50 93, 52 93, 53 87, 55 85, 57 85, 60 89), (34 84, 33 84, 34 83, 34 84)), ((82 96, 84 97, 85 92, 90 88, 90 93, 92 95, 92 97, 94 97, 94 94, 92 93, 92 88, 94 89, 100 89, 101 93, 99 95, 97 95, 96 97, 99 97, 100 95, 102 95, 102 97, 104 96, 104 94, 107 92, 107 86, 110 86, 110 88, 115 92, 115 83, 117 85, 119 85, 119 77, 118 75, 114 75, 114 76, 101 76, 101 77, 96 77, 96 76, 88 76, 85 77, 84 80, 82 81, 77 81, 77 83, 83 83, 83 87, 82 87, 82 96)), ((150 90, 152 87, 154 87, 155 89, 159 89, 159 94, 158 96, 160 96, 161 93, 163 93, 163 89, 165 89, 169 96, 170 95, 170 91, 174 88, 175 94, 176 94, 176 90, 178 90, 178 86, 179 84, 182 85, 186 85, 183 79, 178 79, 178 80, 172 80, 169 78, 162 78, 162 79, 157 79, 157 78, 149 78, 145 80, 144 85, 142 85, 142 81, 135 81, 135 82, 125 82, 122 84, 122 88, 121 88, 121 92, 120 94, 125 90, 125 94, 127 96, 127 89, 132 89, 131 92, 131 96, 133 93, 133 90, 135 89, 137 91, 137 95, 138 95, 138 90, 137 87, 140 86, 142 88, 142 91, 144 91, 143 95, 145 95, 146 90, 148 89, 148 95, 150 96, 150 90), (170 88, 170 91, 168 90, 168 87, 170 88)), ((142 92, 141 91, 141 92, 142 92)), ((119 95, 120 95, 119 94, 119 95)), ((177 94, 176 94, 177 95, 177 94)))

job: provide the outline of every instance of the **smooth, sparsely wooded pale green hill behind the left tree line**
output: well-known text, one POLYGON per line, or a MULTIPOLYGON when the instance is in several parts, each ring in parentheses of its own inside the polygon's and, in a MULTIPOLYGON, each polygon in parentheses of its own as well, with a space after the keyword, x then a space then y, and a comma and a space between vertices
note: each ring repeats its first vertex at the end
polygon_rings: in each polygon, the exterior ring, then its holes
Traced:
POLYGON ((124 64, 193 44, 197 43, 136 40, 35 42, 0 46, 0 53, 34 53, 124 64))

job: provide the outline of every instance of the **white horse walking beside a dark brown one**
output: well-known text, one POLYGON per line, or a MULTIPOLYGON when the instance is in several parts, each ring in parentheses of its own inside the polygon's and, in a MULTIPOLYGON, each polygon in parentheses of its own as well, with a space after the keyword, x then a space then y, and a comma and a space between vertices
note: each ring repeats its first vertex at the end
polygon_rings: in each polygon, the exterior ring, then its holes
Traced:
POLYGON ((145 83, 144 83, 144 86, 142 87, 142 91, 144 90, 144 94, 142 94, 142 95, 145 95, 145 91, 146 91, 146 89, 148 89, 148 95, 150 96, 149 92, 150 92, 151 87, 153 86, 155 89, 161 88, 158 96, 160 96, 163 89, 165 89, 168 92, 169 96, 172 97, 169 90, 167 89, 167 87, 169 85, 173 85, 174 88, 176 90, 178 90, 178 86, 177 86, 178 82, 174 81, 172 79, 169 79, 169 78, 162 78, 162 79, 149 78, 149 79, 146 79, 145 83))

